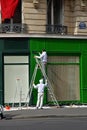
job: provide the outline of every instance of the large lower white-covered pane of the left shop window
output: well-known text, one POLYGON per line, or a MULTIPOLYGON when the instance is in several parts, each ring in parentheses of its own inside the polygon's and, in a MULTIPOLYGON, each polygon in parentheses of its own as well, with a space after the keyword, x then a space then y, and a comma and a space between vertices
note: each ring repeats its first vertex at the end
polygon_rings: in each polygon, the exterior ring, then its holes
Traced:
POLYGON ((21 102, 26 101, 29 89, 28 72, 28 65, 4 65, 5 103, 19 103, 20 98, 21 102))

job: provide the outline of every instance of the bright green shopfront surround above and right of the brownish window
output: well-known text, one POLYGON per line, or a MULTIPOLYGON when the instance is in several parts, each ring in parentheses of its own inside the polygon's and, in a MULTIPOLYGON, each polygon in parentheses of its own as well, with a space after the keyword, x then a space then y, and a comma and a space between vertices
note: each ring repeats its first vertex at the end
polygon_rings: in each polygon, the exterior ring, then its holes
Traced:
MULTIPOLYGON (((87 40, 86 39, 30 39, 30 51, 32 69, 35 65, 34 51, 39 52, 43 48, 47 50, 48 55, 71 54, 80 56, 80 103, 87 103, 87 40), (33 60, 32 60, 33 59, 33 60)), ((38 54, 38 53, 37 53, 38 54)), ((39 78, 39 76, 38 76, 39 78)))

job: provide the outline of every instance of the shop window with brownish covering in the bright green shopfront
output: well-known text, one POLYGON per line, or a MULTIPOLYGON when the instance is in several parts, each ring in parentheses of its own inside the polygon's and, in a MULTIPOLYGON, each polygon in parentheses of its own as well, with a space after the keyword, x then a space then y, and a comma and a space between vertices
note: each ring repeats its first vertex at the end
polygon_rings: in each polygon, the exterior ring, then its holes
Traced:
POLYGON ((80 100, 79 56, 49 56, 48 62, 47 74, 57 99, 80 100))

